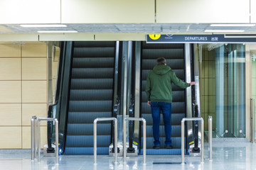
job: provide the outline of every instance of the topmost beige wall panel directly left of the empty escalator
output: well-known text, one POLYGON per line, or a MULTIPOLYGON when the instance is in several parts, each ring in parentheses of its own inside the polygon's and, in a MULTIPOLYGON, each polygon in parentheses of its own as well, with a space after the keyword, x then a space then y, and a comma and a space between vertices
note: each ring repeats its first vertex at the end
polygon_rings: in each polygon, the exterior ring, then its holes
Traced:
POLYGON ((47 45, 44 42, 25 43, 22 46, 22 57, 46 57, 47 45))

